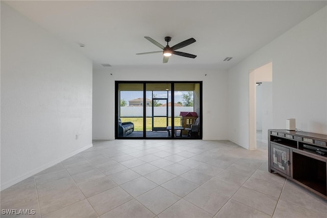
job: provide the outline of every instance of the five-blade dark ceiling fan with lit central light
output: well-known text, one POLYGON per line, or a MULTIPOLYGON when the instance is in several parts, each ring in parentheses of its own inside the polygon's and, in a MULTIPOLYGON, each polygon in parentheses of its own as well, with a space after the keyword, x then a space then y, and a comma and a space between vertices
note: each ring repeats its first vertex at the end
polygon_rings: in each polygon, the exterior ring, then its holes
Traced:
POLYGON ((166 47, 148 36, 145 36, 144 38, 148 39, 150 42, 152 42, 153 44, 155 44, 156 46, 158 46, 160 49, 162 49, 164 51, 137 53, 136 55, 146 55, 146 54, 162 52, 162 54, 164 54, 164 60, 162 61, 162 63, 167 63, 169 60, 169 57, 172 55, 179 55, 179 56, 183 56, 183 57, 187 57, 187 58, 196 58, 196 55, 176 51, 177 49, 181 49, 182 47, 192 44, 193 42, 196 42, 196 40, 194 38, 190 38, 185 41, 179 42, 178 44, 175 44, 172 47, 170 47, 168 44, 170 42, 170 40, 172 39, 172 37, 169 37, 169 36, 165 37, 165 41, 167 42, 166 47))

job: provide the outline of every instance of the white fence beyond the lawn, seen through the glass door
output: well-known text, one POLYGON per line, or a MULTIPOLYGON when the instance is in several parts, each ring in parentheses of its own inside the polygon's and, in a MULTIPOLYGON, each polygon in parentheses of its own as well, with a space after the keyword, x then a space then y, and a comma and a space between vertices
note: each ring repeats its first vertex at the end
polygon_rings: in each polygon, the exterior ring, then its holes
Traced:
MULTIPOLYGON (((146 107, 147 117, 152 117, 152 107, 146 107)), ((181 111, 184 112, 193 112, 193 107, 175 107, 175 116, 179 116, 181 111)), ((154 115, 155 116, 166 116, 167 108, 166 107, 154 107, 154 115)), ((143 107, 140 106, 128 106, 121 107, 121 117, 142 117, 143 116, 143 107)), ((168 116, 171 116, 171 107, 168 107, 168 116)))

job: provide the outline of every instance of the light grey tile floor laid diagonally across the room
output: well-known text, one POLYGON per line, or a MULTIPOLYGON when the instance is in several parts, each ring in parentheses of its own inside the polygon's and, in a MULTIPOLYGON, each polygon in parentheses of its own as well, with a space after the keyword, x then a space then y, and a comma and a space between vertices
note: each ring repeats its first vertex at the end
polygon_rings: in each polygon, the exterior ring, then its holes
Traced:
MULTIPOLYGON (((268 172, 267 144, 109 140, 1 191, 16 217, 327 217, 327 201, 268 172)), ((14 217, 3 215, 1 217, 14 217)))

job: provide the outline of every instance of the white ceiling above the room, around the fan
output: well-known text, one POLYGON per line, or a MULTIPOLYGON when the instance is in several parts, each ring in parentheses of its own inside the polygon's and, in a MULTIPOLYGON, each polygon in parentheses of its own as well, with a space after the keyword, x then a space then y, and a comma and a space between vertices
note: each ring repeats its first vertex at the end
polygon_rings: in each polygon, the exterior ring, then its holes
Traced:
MULTIPOLYGON (((89 57, 95 69, 163 65, 166 45, 191 37, 169 66, 228 69, 326 5, 326 1, 6 1, 19 13, 89 57), (79 44, 85 44, 80 47, 79 44), (225 57, 233 57, 223 62, 225 57)), ((166 64, 165 64, 166 65, 166 64)))

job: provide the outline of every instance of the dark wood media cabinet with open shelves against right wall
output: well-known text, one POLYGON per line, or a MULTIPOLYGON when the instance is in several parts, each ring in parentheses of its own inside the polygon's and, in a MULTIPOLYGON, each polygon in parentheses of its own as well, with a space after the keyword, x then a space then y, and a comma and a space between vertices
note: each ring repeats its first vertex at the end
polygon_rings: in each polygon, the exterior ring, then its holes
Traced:
POLYGON ((327 199, 327 135, 268 130, 268 167, 327 199))

